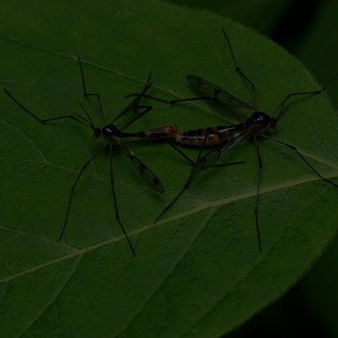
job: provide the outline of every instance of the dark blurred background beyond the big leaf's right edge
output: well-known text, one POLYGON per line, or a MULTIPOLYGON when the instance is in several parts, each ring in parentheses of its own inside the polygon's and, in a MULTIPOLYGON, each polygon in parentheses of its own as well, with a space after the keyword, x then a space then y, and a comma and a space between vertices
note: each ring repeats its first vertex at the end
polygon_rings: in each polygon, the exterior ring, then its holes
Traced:
MULTIPOLYGON (((321 84, 338 72, 337 0, 171 2, 214 11, 267 35, 299 58, 321 84)), ((330 84, 327 94, 337 107, 338 80, 330 84)), ((226 337, 338 337, 337 262, 336 237, 299 284, 226 337)))

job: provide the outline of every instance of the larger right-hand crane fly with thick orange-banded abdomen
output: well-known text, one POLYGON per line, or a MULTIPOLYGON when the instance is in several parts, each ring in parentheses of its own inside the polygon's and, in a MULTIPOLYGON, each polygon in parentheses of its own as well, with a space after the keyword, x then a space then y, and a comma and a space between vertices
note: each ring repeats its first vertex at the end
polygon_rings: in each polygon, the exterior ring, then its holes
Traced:
MULTIPOLYGON (((177 104, 178 102, 182 102, 182 101, 196 101, 196 100, 214 101, 216 104, 224 108, 228 113, 230 113, 234 118, 236 118, 239 121, 237 125, 208 127, 202 130, 201 129, 189 130, 188 132, 184 132, 184 134, 179 135, 181 136, 181 139, 188 141, 188 142, 185 142, 185 144, 195 144, 195 145, 203 144, 203 145, 201 146, 197 160, 193 163, 191 173, 188 177, 187 182, 184 184, 184 187, 175 196, 175 198, 170 202, 170 204, 160 213, 160 215, 158 215, 158 217, 155 220, 155 223, 157 222, 159 218, 161 218, 161 216, 164 213, 166 213, 175 204, 177 199, 189 187, 189 184, 192 180, 193 175, 196 175, 197 173, 201 172, 201 170, 206 170, 207 168, 214 166, 221 156, 223 156, 229 149, 231 149, 235 144, 240 142, 242 139, 251 138, 253 139, 255 143, 257 157, 258 157, 258 183, 257 183, 257 190, 256 190, 256 202, 255 202, 254 213, 255 213, 255 219, 256 219, 256 232, 257 232, 257 237, 258 237, 259 251, 262 251, 261 234, 260 234, 259 226, 258 226, 258 196, 259 196, 259 188, 261 184, 261 172, 262 172, 263 165, 262 165, 261 154, 260 154, 259 146, 258 146, 258 137, 264 137, 265 139, 269 139, 272 142, 275 142, 282 146, 286 146, 289 149, 292 149, 301 158, 301 160, 304 163, 306 163, 306 165, 308 165, 309 168, 311 168, 311 170, 313 171, 313 173, 315 173, 315 175, 325 180, 325 182, 332 184, 334 187, 338 187, 338 184, 332 182, 331 180, 327 180, 327 178, 320 175, 320 173, 318 173, 318 171, 315 170, 315 168, 313 168, 313 166, 306 160, 306 158, 303 155, 301 155, 301 153, 296 149, 296 147, 292 146, 291 144, 282 142, 278 139, 275 139, 274 137, 269 137, 268 135, 265 134, 265 130, 275 130, 275 126, 277 125, 277 122, 282 118, 282 116, 287 111, 287 108, 284 109, 284 104, 287 102, 287 100, 290 99, 290 97, 296 96, 296 95, 320 94, 337 77, 338 73, 334 75, 334 77, 327 84, 325 84, 325 86, 322 87, 320 90, 313 91, 313 92, 296 92, 296 93, 288 94, 287 96, 284 97, 284 99, 277 106, 277 108, 275 108, 273 113, 271 115, 268 115, 256 109, 255 85, 253 84, 251 80, 249 80, 249 77, 247 77, 242 72, 242 70, 240 70, 240 68, 237 66, 237 62, 234 58, 234 53, 232 51, 232 46, 230 44, 230 39, 227 37, 227 34, 225 33, 225 30, 223 27, 222 27, 222 31, 227 41, 227 45, 229 46, 230 54, 232 56, 232 61, 234 63, 235 70, 242 77, 244 77, 244 79, 247 82, 249 82, 249 84, 251 85, 253 105, 247 104, 246 102, 240 99, 237 99, 237 97, 226 92, 224 89, 196 75, 188 75, 187 80, 192 85, 192 87, 196 90, 196 92, 199 92, 199 94, 201 94, 201 96, 187 98, 187 99, 166 100, 166 99, 157 98, 157 97, 143 93, 143 96, 149 99, 154 99, 156 101, 161 101, 161 102, 165 102, 165 103, 172 104, 172 105, 177 104), (251 115, 245 121, 242 121, 233 112, 237 109, 245 109, 246 111, 249 111, 251 115), (277 117, 275 118, 274 115, 276 113, 277 113, 277 117), (194 142, 189 143, 189 139, 194 139, 194 142), (204 156, 201 156, 202 151, 204 149, 204 145, 215 145, 215 144, 218 144, 219 146, 214 149, 211 149, 204 156)), ((132 96, 132 95, 137 95, 138 97, 139 94, 130 94, 129 96, 132 96)))

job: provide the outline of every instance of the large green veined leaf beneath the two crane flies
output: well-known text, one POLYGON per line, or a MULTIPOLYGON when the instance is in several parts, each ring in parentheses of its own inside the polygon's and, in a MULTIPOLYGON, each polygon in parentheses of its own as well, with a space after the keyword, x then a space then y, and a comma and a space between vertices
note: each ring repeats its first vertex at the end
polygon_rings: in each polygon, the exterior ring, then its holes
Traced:
MULTIPOLYGON (((290 92, 320 89, 308 70, 266 37, 213 13, 144 1, 11 1, 1 4, 1 84, 40 118, 82 113, 103 126, 153 72, 149 94, 195 96, 185 78, 204 77, 251 102, 234 71, 256 84, 257 106, 271 113, 290 92)), ((120 218, 115 220, 104 151, 77 185, 61 243, 70 189, 101 146, 72 120, 40 125, 1 90, 0 318, 2 337, 219 337, 284 294, 337 231, 337 189, 318 180, 293 151, 260 139, 263 159, 258 251, 253 215, 258 161, 251 139, 194 177, 165 218, 191 167, 167 144, 129 144, 163 182, 153 192, 118 146, 113 152, 120 218)), ((146 104, 149 101, 144 101, 146 104)), ((177 123, 179 130, 236 121, 207 102, 154 109, 128 130, 177 123)), ((326 94, 294 97, 274 137, 292 144, 337 182, 337 115, 326 94)), ((127 123, 133 113, 120 125, 127 123)), ((245 118, 245 117, 242 117, 245 118)), ((197 149, 182 147, 192 158, 197 149)))

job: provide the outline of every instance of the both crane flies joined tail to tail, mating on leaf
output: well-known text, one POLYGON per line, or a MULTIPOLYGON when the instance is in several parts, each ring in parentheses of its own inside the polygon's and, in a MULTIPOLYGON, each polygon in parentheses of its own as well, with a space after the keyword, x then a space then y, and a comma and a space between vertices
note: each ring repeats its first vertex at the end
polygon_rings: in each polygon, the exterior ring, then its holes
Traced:
MULTIPOLYGON (((173 201, 170 202, 170 204, 158 215, 158 217, 155 220, 156 221, 161 218, 161 216, 168 211, 169 208, 171 208, 177 199, 184 193, 184 191, 189 187, 189 184, 192 180, 193 175, 196 175, 199 173, 201 170, 205 170, 207 168, 210 168, 212 166, 225 166, 225 165, 232 165, 232 164, 239 164, 239 163, 244 163, 242 162, 236 162, 236 163, 227 163, 227 164, 215 164, 218 159, 223 156, 232 146, 237 144, 240 140, 244 138, 253 138, 253 141, 256 144, 256 150, 257 150, 257 155, 258 155, 258 184, 257 184, 257 191, 256 191, 256 205, 255 205, 255 216, 256 216, 256 231, 258 235, 258 246, 259 250, 261 251, 261 235, 259 232, 259 227, 258 227, 258 196, 259 196, 259 188, 261 184, 261 171, 262 171, 262 161, 261 161, 261 154, 259 151, 259 146, 258 146, 258 137, 265 137, 265 139, 270 139, 270 141, 276 142, 277 144, 281 144, 282 146, 286 146, 289 149, 292 149, 293 151, 296 152, 297 155, 300 156, 300 158, 308 165, 309 168, 318 175, 318 177, 322 178, 326 182, 334 185, 334 187, 338 187, 338 184, 335 184, 334 182, 327 180, 325 177, 320 175, 313 166, 308 163, 306 158, 304 158, 301 153, 292 145, 281 142, 278 139, 275 139, 273 137, 268 137, 267 135, 264 134, 265 130, 267 129, 274 129, 275 126, 277 125, 278 120, 282 118, 284 113, 287 111, 287 109, 284 109, 284 104, 285 102, 291 97, 295 95, 308 95, 308 94, 320 94, 325 90, 325 88, 334 80, 337 75, 335 75, 330 82, 328 82, 322 89, 318 91, 313 91, 313 92, 296 92, 292 94, 288 94, 285 96, 283 101, 280 103, 277 108, 273 111, 273 113, 269 116, 266 113, 263 113, 261 111, 257 111, 256 109, 256 94, 255 94, 255 86, 251 80, 249 80, 246 75, 242 72, 242 70, 239 69, 237 66, 236 60, 234 58, 234 54, 232 52, 232 47, 230 44, 230 40, 228 39, 225 30, 222 28, 223 34, 225 36, 225 39, 227 41, 227 44, 230 49, 230 53, 232 56, 232 61, 234 63, 235 70, 242 76, 244 79, 251 84, 251 90, 252 90, 252 98, 253 98, 253 106, 246 104, 244 101, 237 99, 236 97, 232 96, 231 94, 225 92, 225 90, 221 89, 220 87, 217 87, 215 84, 212 82, 209 82, 207 80, 204 80, 201 77, 195 76, 195 75, 188 75, 187 80, 192 84, 192 87, 199 92, 202 96, 199 97, 193 97, 193 98, 188 98, 188 99, 177 99, 177 100, 166 100, 166 99, 160 99, 154 96, 150 96, 149 94, 146 94, 147 90, 149 87, 151 87, 152 82, 150 82, 150 77, 151 73, 149 74, 149 78, 146 82, 146 85, 142 92, 138 94, 130 94, 128 96, 136 96, 133 101, 130 102, 130 104, 123 109, 123 111, 118 114, 116 118, 114 118, 111 123, 106 124, 106 119, 104 115, 103 108, 101 106, 101 98, 99 94, 94 93, 87 93, 86 87, 85 87, 85 82, 84 82, 84 74, 82 70, 82 63, 80 61, 79 57, 79 63, 80 63, 80 70, 81 70, 81 75, 82 75, 82 85, 83 85, 83 90, 84 90, 84 96, 96 96, 96 99, 99 104, 99 108, 101 110, 101 115, 102 119, 104 121, 105 127, 103 128, 98 128, 94 126, 94 123, 92 122, 92 119, 90 118, 89 114, 87 111, 84 109, 82 104, 80 106, 84 110, 84 113, 87 115, 87 118, 82 117, 81 115, 74 114, 74 115, 63 115, 57 118, 49 118, 46 120, 42 120, 37 115, 33 114, 30 112, 27 108, 25 108, 22 104, 20 104, 13 96, 8 92, 7 89, 5 89, 5 92, 15 101, 18 106, 23 108, 27 113, 32 115, 33 118, 37 119, 40 123, 46 123, 50 122, 53 120, 58 120, 58 119, 63 119, 63 118, 72 118, 73 120, 77 121, 78 123, 82 123, 82 125, 86 125, 87 127, 90 127, 92 131, 94 132, 94 138, 98 138, 103 136, 104 137, 104 145, 101 146, 99 151, 92 156, 92 158, 87 161, 80 170, 79 175, 77 176, 77 179, 75 180, 75 184, 73 185, 73 188, 70 191, 70 196, 69 196, 69 201, 68 201, 68 208, 65 216, 65 223, 63 224, 63 229, 61 232, 60 239, 63 237, 63 232, 65 231, 65 227, 67 225, 68 221, 68 214, 70 212, 70 204, 73 198, 73 191, 77 185, 77 182, 79 181, 82 173, 84 172, 84 169, 87 168, 87 165, 91 163, 94 158, 98 154, 101 153, 101 151, 106 147, 110 146, 110 174, 111 174, 111 187, 113 189, 113 199, 114 199, 114 206, 115 206, 115 213, 116 213, 116 219, 118 220, 118 223, 120 224, 121 229, 123 230, 123 233, 125 234, 125 237, 127 239, 127 242, 130 245, 130 249, 132 250, 132 253, 135 255, 135 251, 132 247, 132 244, 130 242, 130 239, 127 235, 127 232, 125 231, 125 228, 123 227, 123 224, 120 221, 120 216, 118 214, 118 204, 117 204, 117 199, 116 199, 116 194, 115 194, 115 188, 114 188, 114 181, 113 181, 113 161, 112 161, 112 149, 113 149, 113 144, 118 144, 120 146, 120 149, 122 149, 125 154, 130 158, 132 161, 134 167, 139 171, 139 173, 142 175, 144 180, 154 189, 156 192, 164 192, 163 185, 161 184, 161 181, 158 180, 158 177, 154 173, 151 172, 149 168, 144 165, 139 159, 134 156, 132 151, 128 150, 123 143, 120 141, 120 139, 124 139, 126 137, 141 137, 142 139, 151 139, 151 140, 164 140, 168 142, 171 146, 173 146, 173 149, 175 149, 179 154, 184 156, 184 158, 187 158, 187 160, 192 163, 192 170, 191 173, 187 179, 186 184, 184 184, 184 187, 182 190, 175 196, 173 201), (234 118, 236 118, 239 121, 239 124, 237 125, 225 125, 225 126, 217 126, 217 127, 206 127, 204 129, 199 129, 199 130, 188 130, 184 132, 177 132, 177 127, 175 123, 173 125, 164 125, 161 127, 151 127, 148 130, 144 130, 142 132, 123 132, 125 127, 129 126, 132 124, 135 120, 138 118, 142 117, 142 115, 148 113, 151 110, 151 106, 142 106, 140 105, 140 101, 142 97, 146 97, 149 99, 153 99, 156 101, 161 101, 165 102, 168 104, 177 104, 182 101, 196 101, 196 100, 209 100, 209 101, 214 101, 216 104, 219 106, 223 107, 227 112, 229 112, 234 118), (136 117, 134 117, 127 125, 125 125, 123 128, 118 129, 118 127, 115 125, 116 121, 118 118, 127 115, 127 113, 130 113, 130 111, 137 111, 138 108, 144 109, 141 113, 138 113, 136 117), (233 113, 234 110, 239 109, 239 108, 245 108, 246 110, 251 112, 251 116, 243 122, 240 118, 238 118, 237 115, 233 113), (275 113, 277 114, 277 117, 275 118, 274 115, 275 113), (201 149, 199 151, 199 155, 197 156, 196 161, 192 161, 191 158, 187 157, 184 155, 180 149, 178 149, 172 142, 179 142, 181 144, 187 144, 187 145, 193 145, 193 146, 201 146, 201 149), (202 156, 202 152, 204 150, 205 146, 216 146, 215 148, 211 149, 211 151, 208 151, 207 154, 202 156)), ((127 97, 127 96, 126 96, 127 97)))

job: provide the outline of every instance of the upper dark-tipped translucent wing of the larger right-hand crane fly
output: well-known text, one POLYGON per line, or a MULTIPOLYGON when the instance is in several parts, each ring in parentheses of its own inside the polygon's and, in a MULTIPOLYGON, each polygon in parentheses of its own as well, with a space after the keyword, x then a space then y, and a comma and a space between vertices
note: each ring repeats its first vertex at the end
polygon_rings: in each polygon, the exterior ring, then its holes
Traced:
POLYGON ((249 111, 256 111, 255 108, 246 104, 245 102, 237 99, 228 92, 225 92, 224 89, 217 87, 215 84, 204 80, 196 75, 188 75, 187 80, 190 82, 194 89, 201 93, 203 96, 211 96, 216 102, 219 101, 221 104, 227 106, 230 109, 246 108, 249 111))

